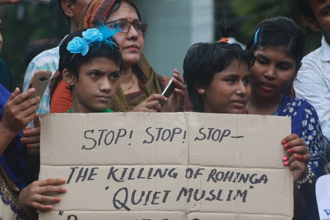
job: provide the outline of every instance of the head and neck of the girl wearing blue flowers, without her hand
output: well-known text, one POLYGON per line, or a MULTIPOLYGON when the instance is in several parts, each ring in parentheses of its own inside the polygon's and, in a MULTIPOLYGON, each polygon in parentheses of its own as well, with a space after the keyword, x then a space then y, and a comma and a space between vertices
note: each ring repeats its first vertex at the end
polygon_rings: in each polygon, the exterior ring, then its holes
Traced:
POLYGON ((107 106, 116 94, 123 62, 116 32, 105 25, 81 29, 61 43, 58 69, 73 96, 68 112, 113 112, 107 106))

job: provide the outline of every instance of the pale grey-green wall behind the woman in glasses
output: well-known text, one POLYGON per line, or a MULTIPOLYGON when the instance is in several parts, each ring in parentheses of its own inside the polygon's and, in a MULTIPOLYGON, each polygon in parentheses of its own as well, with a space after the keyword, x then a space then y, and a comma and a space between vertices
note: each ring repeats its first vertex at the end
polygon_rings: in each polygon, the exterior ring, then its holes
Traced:
POLYGON ((134 0, 148 24, 144 54, 156 73, 182 74, 188 48, 214 41, 213 0, 134 0))

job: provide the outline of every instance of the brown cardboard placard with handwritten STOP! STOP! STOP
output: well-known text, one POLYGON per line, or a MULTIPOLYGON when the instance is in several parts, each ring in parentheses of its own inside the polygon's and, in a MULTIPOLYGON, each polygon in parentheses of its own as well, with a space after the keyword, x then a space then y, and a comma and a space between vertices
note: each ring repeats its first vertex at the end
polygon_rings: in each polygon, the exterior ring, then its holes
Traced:
POLYGON ((293 216, 281 160, 290 117, 60 113, 41 123, 39 179, 66 178, 67 192, 40 219, 293 216))

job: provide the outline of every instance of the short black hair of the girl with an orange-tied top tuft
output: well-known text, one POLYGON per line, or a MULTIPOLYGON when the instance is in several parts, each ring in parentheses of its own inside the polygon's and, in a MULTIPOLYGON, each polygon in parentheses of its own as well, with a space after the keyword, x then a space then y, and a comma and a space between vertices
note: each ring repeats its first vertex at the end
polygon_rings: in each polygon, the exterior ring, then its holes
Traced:
MULTIPOLYGON (((234 29, 223 25, 222 36, 226 38, 234 29)), ((235 60, 239 61, 240 65, 248 65, 250 69, 255 62, 255 56, 252 52, 243 50, 239 44, 225 42, 197 43, 188 49, 183 61, 183 79, 187 85, 193 111, 204 111, 202 95, 195 87, 209 86, 214 75, 227 69, 235 60)))

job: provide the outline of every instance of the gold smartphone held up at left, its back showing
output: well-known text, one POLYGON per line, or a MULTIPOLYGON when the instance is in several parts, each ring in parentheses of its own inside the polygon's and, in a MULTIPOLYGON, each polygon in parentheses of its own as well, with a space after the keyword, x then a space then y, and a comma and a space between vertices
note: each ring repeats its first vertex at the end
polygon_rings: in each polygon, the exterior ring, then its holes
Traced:
POLYGON ((42 96, 45 93, 45 90, 47 88, 48 82, 51 78, 51 71, 49 70, 37 70, 30 82, 29 88, 35 88, 36 92, 33 93, 29 98, 37 97, 39 96, 42 98, 42 96))

